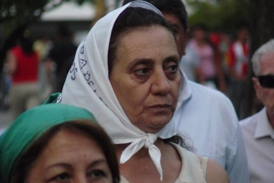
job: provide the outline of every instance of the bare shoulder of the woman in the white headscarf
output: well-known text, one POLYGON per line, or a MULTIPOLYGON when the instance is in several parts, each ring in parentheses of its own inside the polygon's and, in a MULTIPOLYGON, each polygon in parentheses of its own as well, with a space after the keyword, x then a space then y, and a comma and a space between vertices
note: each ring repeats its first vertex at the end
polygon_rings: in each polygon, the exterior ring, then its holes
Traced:
POLYGON ((223 167, 213 159, 208 158, 206 183, 229 183, 228 175, 223 167))

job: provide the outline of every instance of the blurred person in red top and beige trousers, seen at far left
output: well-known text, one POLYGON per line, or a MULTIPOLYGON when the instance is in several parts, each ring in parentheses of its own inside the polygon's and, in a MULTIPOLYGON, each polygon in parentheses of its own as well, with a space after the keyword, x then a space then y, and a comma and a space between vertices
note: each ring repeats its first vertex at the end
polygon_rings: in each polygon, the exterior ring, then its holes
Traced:
POLYGON ((22 37, 20 43, 7 54, 7 73, 11 75, 10 111, 16 118, 24 110, 39 104, 38 55, 30 38, 22 37))

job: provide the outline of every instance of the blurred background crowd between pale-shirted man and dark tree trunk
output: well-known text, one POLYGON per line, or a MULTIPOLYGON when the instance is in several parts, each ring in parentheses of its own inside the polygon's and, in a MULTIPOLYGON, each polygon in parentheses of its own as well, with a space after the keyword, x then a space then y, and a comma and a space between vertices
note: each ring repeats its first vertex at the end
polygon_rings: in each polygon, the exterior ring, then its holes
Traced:
POLYGON ((190 80, 226 94, 239 116, 250 57, 248 27, 239 25, 237 32, 230 34, 210 32, 205 25, 190 30, 181 70, 190 80))

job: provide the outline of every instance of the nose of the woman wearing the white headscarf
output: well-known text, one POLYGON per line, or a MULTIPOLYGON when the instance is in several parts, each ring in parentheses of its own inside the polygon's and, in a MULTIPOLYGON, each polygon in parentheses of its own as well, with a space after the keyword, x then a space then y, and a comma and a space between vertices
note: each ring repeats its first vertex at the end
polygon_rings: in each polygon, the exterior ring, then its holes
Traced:
POLYGON ((151 86, 151 92, 153 94, 166 95, 171 91, 171 84, 169 78, 165 72, 159 71, 153 74, 153 81, 151 86))

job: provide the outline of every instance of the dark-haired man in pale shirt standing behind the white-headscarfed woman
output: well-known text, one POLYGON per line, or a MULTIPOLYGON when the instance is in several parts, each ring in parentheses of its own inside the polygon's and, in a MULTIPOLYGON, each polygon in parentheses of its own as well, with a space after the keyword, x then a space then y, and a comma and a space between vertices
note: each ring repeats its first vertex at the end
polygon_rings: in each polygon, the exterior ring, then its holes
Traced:
MULTIPOLYGON (((123 4, 133 0, 124 0, 123 4)), ((179 56, 185 54, 189 34, 187 12, 181 0, 146 0, 170 23, 179 56)), ((196 153, 215 159, 230 183, 249 183, 246 153, 239 120, 231 101, 222 93, 188 80, 182 72, 183 102, 174 114, 177 129, 189 137, 196 153)))

